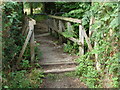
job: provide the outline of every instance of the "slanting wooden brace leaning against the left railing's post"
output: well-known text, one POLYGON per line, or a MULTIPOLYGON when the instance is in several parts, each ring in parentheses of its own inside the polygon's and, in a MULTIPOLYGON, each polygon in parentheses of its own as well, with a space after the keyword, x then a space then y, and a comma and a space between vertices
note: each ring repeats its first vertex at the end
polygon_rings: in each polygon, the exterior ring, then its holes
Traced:
POLYGON ((24 45, 23 45, 23 47, 22 47, 22 50, 21 50, 21 52, 20 52, 20 55, 19 55, 17 64, 18 64, 18 63, 21 61, 21 59, 22 59, 22 56, 23 56, 23 54, 24 54, 24 52, 25 52, 25 49, 26 49, 26 47, 27 47, 27 44, 28 44, 28 42, 29 42, 29 40, 30 40, 30 37, 31 37, 31 35, 32 35, 33 29, 34 29, 33 27, 34 27, 34 26, 33 26, 32 21, 29 21, 29 32, 28 32, 27 38, 26 38, 26 40, 25 40, 25 43, 24 43, 24 45))

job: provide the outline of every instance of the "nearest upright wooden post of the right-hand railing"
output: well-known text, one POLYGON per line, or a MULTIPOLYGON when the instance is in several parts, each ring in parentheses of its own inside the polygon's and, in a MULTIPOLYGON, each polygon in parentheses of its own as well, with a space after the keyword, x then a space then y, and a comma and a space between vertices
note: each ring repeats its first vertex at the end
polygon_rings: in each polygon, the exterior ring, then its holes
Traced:
POLYGON ((79 46, 79 53, 80 56, 84 55, 84 33, 82 25, 79 25, 79 41, 81 42, 82 46, 79 46))

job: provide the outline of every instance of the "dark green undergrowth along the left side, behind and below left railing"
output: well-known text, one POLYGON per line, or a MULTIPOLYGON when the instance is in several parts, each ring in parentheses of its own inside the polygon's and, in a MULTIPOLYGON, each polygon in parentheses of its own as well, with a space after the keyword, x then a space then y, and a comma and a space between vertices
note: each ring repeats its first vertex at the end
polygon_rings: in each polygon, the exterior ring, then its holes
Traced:
MULTIPOLYGON (((26 35, 22 35, 24 25, 23 3, 5 2, 3 9, 3 59, 2 59, 2 88, 38 88, 44 77, 41 71, 36 68, 39 64, 30 64, 30 46, 23 55, 23 60, 19 63, 19 70, 15 65, 19 53, 25 42, 26 35)), ((37 50, 37 47, 35 47, 37 50)), ((36 53, 36 60, 37 55, 36 53)), ((37 62, 37 61, 35 61, 37 62)))

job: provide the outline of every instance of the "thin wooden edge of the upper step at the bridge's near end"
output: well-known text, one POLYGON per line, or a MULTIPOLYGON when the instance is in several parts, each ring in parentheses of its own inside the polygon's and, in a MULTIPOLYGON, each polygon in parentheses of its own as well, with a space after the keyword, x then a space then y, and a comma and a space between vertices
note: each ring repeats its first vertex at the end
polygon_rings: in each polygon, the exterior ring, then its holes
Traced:
POLYGON ((52 66, 52 65, 71 65, 71 64, 78 64, 76 62, 49 62, 49 63, 39 63, 41 66, 52 66))

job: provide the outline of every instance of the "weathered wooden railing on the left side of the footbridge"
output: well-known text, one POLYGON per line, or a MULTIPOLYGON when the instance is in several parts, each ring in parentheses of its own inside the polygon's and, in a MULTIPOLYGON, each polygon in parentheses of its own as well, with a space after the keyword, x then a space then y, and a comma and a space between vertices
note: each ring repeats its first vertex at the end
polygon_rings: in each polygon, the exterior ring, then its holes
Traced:
POLYGON ((36 21, 32 18, 29 17, 25 17, 25 24, 23 26, 22 29, 22 35, 23 36, 27 36, 26 40, 24 42, 24 45, 22 46, 22 50, 20 51, 19 57, 18 57, 18 61, 17 64, 22 60, 22 56, 25 52, 25 49, 27 47, 27 44, 30 43, 30 54, 31 54, 31 64, 34 61, 34 57, 35 57, 35 51, 34 51, 34 25, 36 24, 36 21), (29 42, 30 41, 30 42, 29 42))

